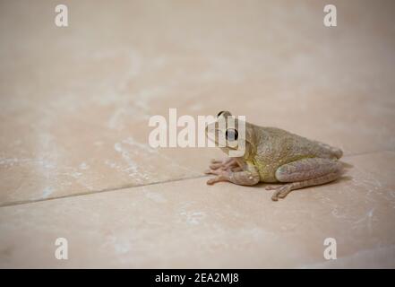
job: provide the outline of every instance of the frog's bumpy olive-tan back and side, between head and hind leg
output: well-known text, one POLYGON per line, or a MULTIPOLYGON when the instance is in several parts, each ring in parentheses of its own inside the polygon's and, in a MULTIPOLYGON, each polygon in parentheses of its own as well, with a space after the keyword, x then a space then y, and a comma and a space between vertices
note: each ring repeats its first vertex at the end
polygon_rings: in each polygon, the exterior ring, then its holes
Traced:
POLYGON ((276 182, 276 170, 286 163, 304 158, 337 159, 342 152, 330 145, 291 134, 276 127, 254 126, 257 139, 253 162, 261 180, 276 182))

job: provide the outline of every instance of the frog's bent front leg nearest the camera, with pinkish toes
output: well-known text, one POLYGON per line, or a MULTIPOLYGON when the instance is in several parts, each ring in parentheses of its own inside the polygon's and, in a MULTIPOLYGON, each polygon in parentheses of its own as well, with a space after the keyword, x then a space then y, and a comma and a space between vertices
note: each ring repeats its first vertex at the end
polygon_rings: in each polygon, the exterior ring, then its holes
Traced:
POLYGON ((243 170, 238 167, 236 169, 217 169, 207 171, 207 174, 214 174, 217 176, 215 178, 210 178, 207 181, 207 184, 212 185, 219 181, 230 181, 241 186, 256 185, 260 181, 259 172, 256 167, 252 163, 238 163, 239 165, 243 165, 243 170))

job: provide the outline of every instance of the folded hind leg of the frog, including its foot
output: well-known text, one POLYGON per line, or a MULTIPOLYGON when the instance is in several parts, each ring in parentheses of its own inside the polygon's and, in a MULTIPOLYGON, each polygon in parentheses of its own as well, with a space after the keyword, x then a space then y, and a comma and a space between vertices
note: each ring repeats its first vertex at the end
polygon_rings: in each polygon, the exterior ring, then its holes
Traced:
POLYGON ((341 170, 341 163, 330 159, 311 158, 293 161, 276 171, 277 180, 286 184, 268 186, 266 189, 275 190, 271 199, 277 201, 292 190, 331 182, 340 177, 341 170))

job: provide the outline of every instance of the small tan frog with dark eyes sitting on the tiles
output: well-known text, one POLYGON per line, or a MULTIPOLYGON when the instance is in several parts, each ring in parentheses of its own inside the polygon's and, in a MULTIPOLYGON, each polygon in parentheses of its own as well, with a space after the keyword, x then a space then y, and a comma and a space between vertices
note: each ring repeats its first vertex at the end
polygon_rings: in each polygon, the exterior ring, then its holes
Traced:
POLYGON ((208 185, 228 181, 255 186, 263 182, 269 184, 265 189, 273 191, 271 200, 278 201, 292 190, 327 184, 342 174, 341 149, 281 128, 251 124, 229 111, 220 111, 216 120, 205 126, 205 135, 228 154, 225 160, 210 161, 205 173, 215 177, 208 185), (234 125, 228 125, 229 117, 234 125), (219 125, 219 121, 225 124, 219 125), (239 133, 241 125, 244 128, 239 133), (225 137, 225 144, 219 141, 220 136, 225 137), (230 156, 242 143, 244 154, 230 156))

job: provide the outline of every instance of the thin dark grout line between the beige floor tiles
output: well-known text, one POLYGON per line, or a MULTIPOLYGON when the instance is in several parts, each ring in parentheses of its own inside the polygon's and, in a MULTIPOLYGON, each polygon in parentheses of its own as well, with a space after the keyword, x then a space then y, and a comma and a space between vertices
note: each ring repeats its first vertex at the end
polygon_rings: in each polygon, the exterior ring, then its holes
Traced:
MULTIPOLYGON (((359 155, 364 155, 364 154, 372 154, 372 153, 378 153, 378 152, 395 152, 395 150, 382 150, 382 151, 372 151, 372 152, 351 153, 351 154, 344 155, 342 158, 348 158, 348 157, 354 157, 354 156, 359 156, 359 155)), ((142 184, 142 185, 125 185, 123 187, 107 187, 107 188, 96 190, 96 191, 86 191, 86 192, 81 192, 81 193, 67 195, 67 196, 56 196, 56 197, 50 197, 50 198, 14 201, 14 202, 10 202, 10 203, 0 204, 0 208, 7 207, 7 206, 14 206, 14 205, 22 205, 22 204, 34 204, 34 203, 62 199, 62 198, 70 198, 70 197, 77 197, 77 196, 89 196, 89 195, 110 192, 110 191, 124 190, 124 189, 128 189, 128 188, 133 188, 133 187, 149 187, 149 186, 155 186, 155 185, 159 185, 159 184, 163 184, 163 183, 177 182, 177 181, 183 181, 183 180, 195 179, 195 178, 206 178, 206 177, 208 177, 208 175, 199 175, 199 176, 193 176, 193 177, 187 177, 187 178, 168 179, 168 180, 164 180, 164 181, 150 182, 150 183, 142 184)))

